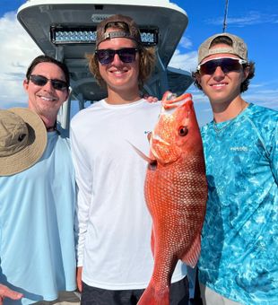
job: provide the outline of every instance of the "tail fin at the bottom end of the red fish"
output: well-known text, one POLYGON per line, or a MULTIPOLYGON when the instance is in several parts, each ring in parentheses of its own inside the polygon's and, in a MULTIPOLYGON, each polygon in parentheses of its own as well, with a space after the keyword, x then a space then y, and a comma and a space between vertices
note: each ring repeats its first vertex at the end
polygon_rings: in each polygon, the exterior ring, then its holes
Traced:
POLYGON ((137 305, 169 305, 169 287, 166 287, 163 292, 156 291, 155 285, 151 281, 137 305))

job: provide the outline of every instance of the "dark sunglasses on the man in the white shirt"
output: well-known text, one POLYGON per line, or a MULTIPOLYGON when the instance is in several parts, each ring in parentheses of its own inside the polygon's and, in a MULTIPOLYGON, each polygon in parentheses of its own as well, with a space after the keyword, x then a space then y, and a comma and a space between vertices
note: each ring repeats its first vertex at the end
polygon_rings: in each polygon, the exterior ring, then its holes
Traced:
POLYGON ((101 65, 109 65, 114 60, 115 54, 123 63, 133 63, 135 61, 137 48, 120 48, 120 49, 98 49, 95 51, 101 65))

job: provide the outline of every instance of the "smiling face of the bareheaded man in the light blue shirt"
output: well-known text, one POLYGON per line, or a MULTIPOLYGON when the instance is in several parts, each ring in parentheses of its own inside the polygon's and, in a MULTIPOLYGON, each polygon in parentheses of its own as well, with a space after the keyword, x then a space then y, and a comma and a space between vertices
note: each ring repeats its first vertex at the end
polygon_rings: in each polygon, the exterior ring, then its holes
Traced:
MULTIPOLYGON (((65 74, 61 68, 53 63, 43 62, 36 65, 31 71, 32 75, 42 75, 51 80, 65 82, 65 74)), ((28 105, 31 110, 38 113, 41 118, 56 119, 60 106, 68 97, 67 89, 56 90, 48 81, 43 86, 36 85, 30 80, 24 80, 23 87, 28 94, 28 105)))

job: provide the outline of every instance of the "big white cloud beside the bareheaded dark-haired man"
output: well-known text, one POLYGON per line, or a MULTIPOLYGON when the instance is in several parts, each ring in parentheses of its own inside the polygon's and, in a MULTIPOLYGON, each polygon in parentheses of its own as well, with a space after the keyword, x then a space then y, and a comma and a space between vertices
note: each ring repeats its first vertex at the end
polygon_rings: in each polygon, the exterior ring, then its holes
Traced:
POLYGON ((19 106, 26 102, 22 89, 28 65, 41 54, 16 19, 15 13, 0 18, 0 108, 19 106))

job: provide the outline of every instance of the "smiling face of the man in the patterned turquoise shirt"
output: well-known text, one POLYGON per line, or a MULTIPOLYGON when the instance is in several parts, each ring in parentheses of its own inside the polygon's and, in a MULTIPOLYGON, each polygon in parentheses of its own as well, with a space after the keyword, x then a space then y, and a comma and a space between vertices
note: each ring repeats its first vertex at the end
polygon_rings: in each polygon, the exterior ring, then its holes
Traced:
MULTIPOLYGON (((212 48, 225 48, 225 44, 216 44, 212 48)), ((239 58, 231 54, 213 54, 205 57, 203 62, 214 58, 232 57, 239 58)), ((202 63, 201 63, 202 64, 202 63)), ((213 74, 199 74, 198 83, 202 86, 204 94, 207 95, 213 105, 229 104, 240 96, 240 85, 248 76, 248 69, 243 69, 240 65, 239 70, 224 73, 220 66, 217 66, 213 74)))

